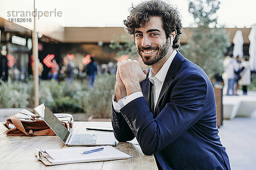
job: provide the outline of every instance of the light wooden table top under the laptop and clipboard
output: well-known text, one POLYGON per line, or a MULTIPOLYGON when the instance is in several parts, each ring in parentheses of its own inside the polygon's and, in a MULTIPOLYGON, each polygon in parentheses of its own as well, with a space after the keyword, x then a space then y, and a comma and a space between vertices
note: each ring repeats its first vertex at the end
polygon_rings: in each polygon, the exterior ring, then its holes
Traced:
MULTIPOLYGON (((9 170, 157 170, 154 156, 146 156, 140 146, 131 142, 120 142, 115 148, 131 156, 130 159, 90 163, 45 166, 35 159, 35 148, 67 148, 58 136, 7 136, 6 127, 0 125, 0 169, 9 170)), ((74 122, 72 133, 86 133, 87 126, 111 126, 111 122, 74 122)), ((91 132, 92 130, 90 130, 91 132)), ((89 131, 87 131, 89 132, 89 131)), ((99 132, 99 131, 97 131, 99 132)), ((112 132, 109 132, 112 133, 112 132)))

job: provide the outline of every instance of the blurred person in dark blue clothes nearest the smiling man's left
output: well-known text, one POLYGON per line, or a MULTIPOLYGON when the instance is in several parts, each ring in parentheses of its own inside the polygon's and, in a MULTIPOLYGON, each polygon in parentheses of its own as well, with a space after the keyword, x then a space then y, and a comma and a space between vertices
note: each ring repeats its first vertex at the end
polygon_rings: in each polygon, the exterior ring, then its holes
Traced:
POLYGON ((86 66, 86 74, 89 81, 89 88, 93 88, 97 75, 97 63, 95 62, 94 57, 90 58, 90 63, 86 66))

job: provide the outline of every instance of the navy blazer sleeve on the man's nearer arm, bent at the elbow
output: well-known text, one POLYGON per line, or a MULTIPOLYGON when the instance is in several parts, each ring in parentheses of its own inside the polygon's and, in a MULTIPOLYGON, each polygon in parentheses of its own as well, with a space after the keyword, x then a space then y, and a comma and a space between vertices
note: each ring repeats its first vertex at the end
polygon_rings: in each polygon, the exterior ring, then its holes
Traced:
POLYGON ((180 79, 170 93, 169 103, 159 106, 164 108, 156 119, 144 97, 120 109, 145 155, 159 152, 204 116, 207 95, 204 77, 189 74, 180 79))

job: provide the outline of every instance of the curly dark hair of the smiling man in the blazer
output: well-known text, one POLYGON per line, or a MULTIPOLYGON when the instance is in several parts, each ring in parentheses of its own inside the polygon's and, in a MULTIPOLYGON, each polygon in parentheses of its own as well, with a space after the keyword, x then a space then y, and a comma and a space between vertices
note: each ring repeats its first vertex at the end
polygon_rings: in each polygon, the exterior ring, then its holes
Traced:
POLYGON ((162 18, 166 38, 170 37, 173 31, 177 31, 172 47, 179 48, 180 34, 183 34, 180 13, 177 11, 177 7, 174 8, 162 0, 149 0, 137 6, 132 6, 130 8, 130 16, 128 16, 127 20, 123 20, 126 31, 128 34, 134 35, 136 29, 148 23, 150 17, 153 16, 162 18))

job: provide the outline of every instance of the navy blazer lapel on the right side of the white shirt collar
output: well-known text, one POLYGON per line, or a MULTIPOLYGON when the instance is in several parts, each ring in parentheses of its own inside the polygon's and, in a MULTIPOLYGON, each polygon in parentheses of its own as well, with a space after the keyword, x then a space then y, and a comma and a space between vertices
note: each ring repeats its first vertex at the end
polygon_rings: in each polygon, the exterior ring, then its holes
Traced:
POLYGON ((157 113, 157 115, 159 114, 158 113, 159 102, 160 102, 161 98, 164 96, 164 94, 166 94, 166 91, 168 90, 169 85, 171 84, 171 82, 173 80, 173 77, 175 77, 175 75, 177 74, 177 71, 178 71, 183 59, 184 59, 184 57, 180 54, 179 51, 177 51, 177 54, 175 55, 174 59, 172 60, 172 63, 167 71, 166 77, 163 82, 163 87, 160 91, 160 94, 159 94, 159 97, 157 100, 157 105, 156 105, 155 111, 154 111, 154 113, 157 113))

